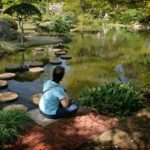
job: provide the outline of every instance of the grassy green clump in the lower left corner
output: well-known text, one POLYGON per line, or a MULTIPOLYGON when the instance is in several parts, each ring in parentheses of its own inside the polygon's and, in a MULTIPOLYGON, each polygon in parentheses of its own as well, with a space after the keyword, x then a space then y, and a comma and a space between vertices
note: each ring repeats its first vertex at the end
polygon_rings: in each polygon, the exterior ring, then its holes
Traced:
POLYGON ((0 147, 17 138, 29 124, 29 118, 20 110, 0 111, 0 147))

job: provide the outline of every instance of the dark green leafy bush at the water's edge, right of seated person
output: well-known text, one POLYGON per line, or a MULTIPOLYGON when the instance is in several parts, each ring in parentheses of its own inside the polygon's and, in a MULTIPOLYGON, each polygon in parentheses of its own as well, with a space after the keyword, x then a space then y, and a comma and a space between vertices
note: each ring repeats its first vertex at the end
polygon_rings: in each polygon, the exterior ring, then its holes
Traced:
POLYGON ((109 83, 81 91, 78 101, 99 113, 127 116, 142 107, 139 96, 140 93, 134 90, 131 83, 109 83))

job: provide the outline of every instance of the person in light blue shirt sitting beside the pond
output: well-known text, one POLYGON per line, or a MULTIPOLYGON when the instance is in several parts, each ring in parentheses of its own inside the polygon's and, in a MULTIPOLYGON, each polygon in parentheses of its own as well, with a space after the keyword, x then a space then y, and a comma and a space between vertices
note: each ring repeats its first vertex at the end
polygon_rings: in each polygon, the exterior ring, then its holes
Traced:
POLYGON ((39 110, 46 118, 69 117, 74 115, 79 108, 76 102, 69 103, 68 99, 65 98, 65 89, 59 84, 64 74, 65 69, 57 66, 53 70, 52 80, 47 80, 44 83, 39 110))

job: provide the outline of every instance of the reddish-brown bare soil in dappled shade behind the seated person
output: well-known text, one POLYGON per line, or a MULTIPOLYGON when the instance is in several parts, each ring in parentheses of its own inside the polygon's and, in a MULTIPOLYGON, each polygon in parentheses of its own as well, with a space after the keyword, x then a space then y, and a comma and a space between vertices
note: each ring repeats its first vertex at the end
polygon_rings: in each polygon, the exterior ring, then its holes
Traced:
POLYGON ((29 130, 14 144, 6 145, 5 150, 70 150, 97 137, 113 127, 116 120, 82 112, 75 117, 66 118, 40 127, 32 124, 29 130))

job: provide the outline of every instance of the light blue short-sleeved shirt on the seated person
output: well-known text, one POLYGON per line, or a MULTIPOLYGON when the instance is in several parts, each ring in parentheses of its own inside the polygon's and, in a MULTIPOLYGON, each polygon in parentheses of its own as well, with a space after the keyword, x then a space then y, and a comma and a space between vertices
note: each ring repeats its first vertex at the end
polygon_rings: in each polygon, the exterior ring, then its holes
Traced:
POLYGON ((44 83, 43 92, 39 103, 40 110, 47 115, 55 115, 60 100, 65 98, 64 88, 52 80, 47 80, 44 83))

